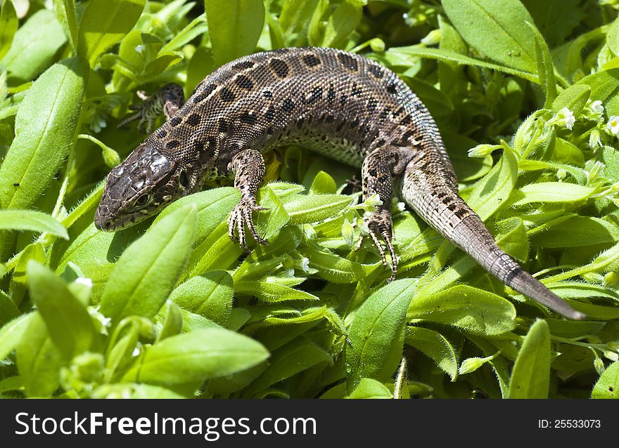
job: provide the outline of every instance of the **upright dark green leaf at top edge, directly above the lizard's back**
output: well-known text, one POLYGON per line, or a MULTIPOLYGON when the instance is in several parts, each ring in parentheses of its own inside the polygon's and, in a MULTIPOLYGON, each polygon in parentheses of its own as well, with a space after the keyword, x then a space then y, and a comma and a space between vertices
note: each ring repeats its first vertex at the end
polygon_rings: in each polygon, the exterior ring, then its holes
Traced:
POLYGON ((215 65, 253 52, 264 24, 262 0, 205 0, 215 65))

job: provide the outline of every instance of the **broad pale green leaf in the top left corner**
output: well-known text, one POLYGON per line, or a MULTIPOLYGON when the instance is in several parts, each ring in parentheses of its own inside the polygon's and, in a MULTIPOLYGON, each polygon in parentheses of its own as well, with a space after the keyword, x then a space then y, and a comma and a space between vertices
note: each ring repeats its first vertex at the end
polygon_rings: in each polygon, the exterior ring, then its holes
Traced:
MULTIPOLYGON (((4 3, 6 5, 11 1, 4 3)), ((3 11, 6 8, 3 6, 3 11)), ((11 25, 7 25, 9 26, 7 32, 9 32, 11 25)), ((2 33, 4 34, 4 31, 2 33)), ((52 64, 58 49, 66 41, 67 37, 63 27, 56 17, 51 11, 42 9, 30 16, 25 24, 15 32, 11 49, 0 63, 6 67, 11 78, 18 81, 30 81, 52 64)), ((75 98, 67 98, 67 100, 76 101, 75 98)), ((80 103, 81 100, 77 100, 77 104, 66 105, 66 107, 77 107, 80 103)), ((22 110, 21 107, 19 110, 22 110)))

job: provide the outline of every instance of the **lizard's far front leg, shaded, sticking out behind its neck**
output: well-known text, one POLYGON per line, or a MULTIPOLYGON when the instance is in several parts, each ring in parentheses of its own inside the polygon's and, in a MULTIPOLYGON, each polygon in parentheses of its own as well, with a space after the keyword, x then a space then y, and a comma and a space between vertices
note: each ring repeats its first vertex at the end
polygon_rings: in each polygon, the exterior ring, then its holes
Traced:
POLYGON ((166 84, 152 96, 147 96, 143 91, 138 91, 137 95, 142 103, 130 107, 136 113, 121 121, 119 128, 127 126, 132 121, 138 121, 138 129, 141 132, 146 130, 146 133, 151 133, 157 117, 164 114, 166 119, 170 119, 185 103, 183 88, 174 83, 166 84))

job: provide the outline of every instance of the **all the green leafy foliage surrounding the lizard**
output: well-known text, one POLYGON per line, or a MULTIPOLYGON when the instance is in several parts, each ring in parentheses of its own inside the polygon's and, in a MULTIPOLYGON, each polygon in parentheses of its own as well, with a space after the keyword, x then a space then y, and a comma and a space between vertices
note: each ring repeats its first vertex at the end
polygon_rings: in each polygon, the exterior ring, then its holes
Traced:
POLYGON ((4 0, 4 397, 617 397, 619 2, 4 0), (397 201, 399 279, 352 251, 355 170, 267 157, 269 246, 226 235, 229 185, 115 234, 102 180, 143 139, 137 90, 191 93, 253 51, 332 46, 395 70, 438 121, 502 248, 589 320, 493 279, 397 201))

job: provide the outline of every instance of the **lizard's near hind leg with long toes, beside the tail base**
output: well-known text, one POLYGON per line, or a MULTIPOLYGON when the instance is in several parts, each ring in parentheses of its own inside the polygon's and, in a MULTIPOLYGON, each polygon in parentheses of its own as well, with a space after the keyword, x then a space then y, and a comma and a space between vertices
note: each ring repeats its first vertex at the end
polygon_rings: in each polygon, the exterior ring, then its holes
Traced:
MULTIPOLYGON (((381 260, 385 268, 387 267, 387 257, 385 248, 381 243, 381 239, 385 242, 385 246, 391 257, 391 277, 390 281, 395 279, 397 274, 397 256, 393 249, 393 220, 391 219, 391 197, 393 195, 393 178, 401 176, 406 168, 409 160, 413 157, 414 152, 403 147, 383 147, 374 152, 371 152, 363 162, 362 166, 362 181, 363 181, 363 197, 377 194, 381 199, 382 204, 376 207, 376 210, 370 216, 364 218, 369 230, 369 235, 381 254, 381 260)), ((363 244, 364 235, 359 237, 357 244, 358 250, 363 244)))

